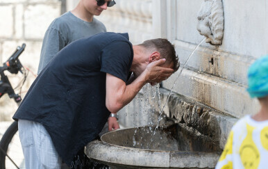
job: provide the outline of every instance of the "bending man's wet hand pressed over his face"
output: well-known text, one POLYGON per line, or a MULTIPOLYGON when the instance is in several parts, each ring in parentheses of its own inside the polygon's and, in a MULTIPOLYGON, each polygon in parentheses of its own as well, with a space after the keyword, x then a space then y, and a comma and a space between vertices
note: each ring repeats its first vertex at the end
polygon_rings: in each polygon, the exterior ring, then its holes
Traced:
POLYGON ((166 80, 171 76, 174 70, 171 68, 162 67, 164 63, 165 58, 162 58, 158 61, 149 63, 149 65, 146 66, 144 73, 146 74, 147 83, 151 83, 151 85, 154 85, 156 83, 160 83, 161 81, 166 80))

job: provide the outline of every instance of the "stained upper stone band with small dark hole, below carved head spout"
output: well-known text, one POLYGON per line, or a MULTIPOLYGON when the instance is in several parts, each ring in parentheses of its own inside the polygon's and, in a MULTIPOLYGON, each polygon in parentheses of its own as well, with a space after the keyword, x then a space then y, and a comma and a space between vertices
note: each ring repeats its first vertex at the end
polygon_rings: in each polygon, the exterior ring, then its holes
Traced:
MULTIPOLYGON (((187 61, 196 45, 189 42, 176 40, 176 53, 179 55, 181 63, 187 61)), ((204 42, 193 54, 187 63, 187 67, 194 71, 212 74, 228 81, 234 81, 244 86, 247 85, 247 70, 249 65, 255 61, 252 56, 240 56, 232 54, 228 51, 223 51, 217 46, 204 45, 204 42), (213 65, 209 63, 213 58, 213 65)))

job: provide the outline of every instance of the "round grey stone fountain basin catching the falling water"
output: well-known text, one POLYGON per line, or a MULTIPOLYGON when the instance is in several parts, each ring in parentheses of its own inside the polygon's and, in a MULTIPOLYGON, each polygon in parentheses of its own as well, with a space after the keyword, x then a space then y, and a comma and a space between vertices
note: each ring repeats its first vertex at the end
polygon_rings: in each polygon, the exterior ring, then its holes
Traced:
POLYGON ((184 124, 119 129, 85 147, 91 159, 115 168, 215 168, 219 143, 184 124), (156 131, 156 132, 154 132, 156 131))

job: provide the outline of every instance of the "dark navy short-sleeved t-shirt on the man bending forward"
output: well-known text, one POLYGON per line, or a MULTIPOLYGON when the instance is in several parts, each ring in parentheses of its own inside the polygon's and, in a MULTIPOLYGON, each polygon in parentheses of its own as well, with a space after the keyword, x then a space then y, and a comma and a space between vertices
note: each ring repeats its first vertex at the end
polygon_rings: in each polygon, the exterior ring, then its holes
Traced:
POLYGON ((124 33, 99 33, 67 45, 35 79, 14 119, 40 122, 65 163, 108 120, 106 73, 127 81, 133 47, 124 33))

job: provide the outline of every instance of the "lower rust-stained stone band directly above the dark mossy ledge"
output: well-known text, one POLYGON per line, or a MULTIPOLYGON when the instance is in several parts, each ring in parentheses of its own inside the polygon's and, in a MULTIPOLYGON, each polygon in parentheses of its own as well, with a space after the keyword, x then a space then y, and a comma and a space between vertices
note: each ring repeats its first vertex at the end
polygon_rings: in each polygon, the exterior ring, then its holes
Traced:
POLYGON ((249 97, 246 86, 187 69, 183 70, 178 79, 176 77, 177 72, 163 81, 163 87, 171 90, 176 80, 177 85, 172 91, 235 118, 253 114, 260 108, 258 100, 249 97))

